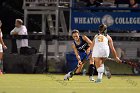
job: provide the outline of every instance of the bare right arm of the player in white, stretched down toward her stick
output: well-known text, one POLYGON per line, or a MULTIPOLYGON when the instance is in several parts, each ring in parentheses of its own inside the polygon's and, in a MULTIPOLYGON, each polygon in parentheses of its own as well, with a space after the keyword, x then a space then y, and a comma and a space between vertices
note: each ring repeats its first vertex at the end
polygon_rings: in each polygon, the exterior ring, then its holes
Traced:
POLYGON ((111 38, 109 35, 107 36, 107 38, 108 38, 108 40, 109 40, 109 47, 110 47, 110 49, 111 49, 111 52, 112 52, 114 58, 115 58, 118 62, 121 62, 121 60, 120 60, 120 58, 118 57, 117 52, 116 52, 116 50, 115 50, 115 48, 114 48, 112 38, 111 38))

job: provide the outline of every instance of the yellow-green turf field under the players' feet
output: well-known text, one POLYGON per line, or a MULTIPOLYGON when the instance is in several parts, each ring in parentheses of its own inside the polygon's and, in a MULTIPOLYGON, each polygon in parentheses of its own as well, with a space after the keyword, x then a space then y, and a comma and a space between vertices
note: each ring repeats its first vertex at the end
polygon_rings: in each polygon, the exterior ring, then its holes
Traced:
POLYGON ((90 82, 88 76, 75 76, 72 81, 63 81, 63 76, 1 75, 0 93, 140 93, 140 76, 104 76, 100 84, 90 82))

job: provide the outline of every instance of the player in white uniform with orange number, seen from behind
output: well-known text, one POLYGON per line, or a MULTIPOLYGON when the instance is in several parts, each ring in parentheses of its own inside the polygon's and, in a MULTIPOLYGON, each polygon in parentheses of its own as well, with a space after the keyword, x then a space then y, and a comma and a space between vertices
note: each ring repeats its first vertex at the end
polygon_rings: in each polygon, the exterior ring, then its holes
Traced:
POLYGON ((101 82, 104 73, 104 61, 109 57, 110 49, 117 62, 121 62, 114 48, 113 40, 107 34, 106 25, 102 24, 99 26, 99 34, 95 35, 91 48, 93 49, 92 57, 94 58, 95 66, 98 72, 98 77, 95 83, 99 83, 101 82))

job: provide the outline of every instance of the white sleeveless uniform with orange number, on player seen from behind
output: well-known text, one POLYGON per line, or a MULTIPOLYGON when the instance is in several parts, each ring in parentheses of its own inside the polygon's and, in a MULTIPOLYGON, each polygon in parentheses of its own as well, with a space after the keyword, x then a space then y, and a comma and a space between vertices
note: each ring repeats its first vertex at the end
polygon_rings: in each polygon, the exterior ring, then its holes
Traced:
POLYGON ((110 54, 108 38, 98 34, 94 38, 92 57, 108 57, 110 54))

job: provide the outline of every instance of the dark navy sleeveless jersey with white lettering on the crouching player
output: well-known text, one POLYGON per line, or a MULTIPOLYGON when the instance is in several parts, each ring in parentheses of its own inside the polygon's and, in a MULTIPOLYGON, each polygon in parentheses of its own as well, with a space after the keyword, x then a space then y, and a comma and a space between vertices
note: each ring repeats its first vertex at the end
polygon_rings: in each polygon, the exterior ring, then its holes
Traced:
POLYGON ((75 41, 74 44, 79 52, 86 52, 86 50, 89 48, 88 43, 85 40, 83 40, 82 36, 80 36, 80 44, 76 44, 75 41))

